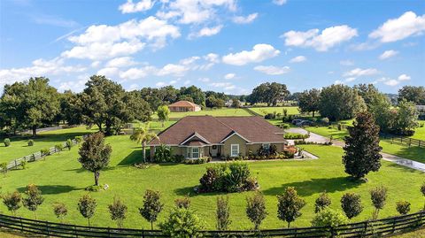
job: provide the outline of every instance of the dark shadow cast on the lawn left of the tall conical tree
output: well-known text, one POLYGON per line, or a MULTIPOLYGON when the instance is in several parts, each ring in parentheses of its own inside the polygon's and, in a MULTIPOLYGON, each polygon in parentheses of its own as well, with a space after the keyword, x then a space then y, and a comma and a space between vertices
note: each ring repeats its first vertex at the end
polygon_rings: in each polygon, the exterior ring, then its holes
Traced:
POLYGON ((282 184, 281 187, 263 190, 263 193, 265 195, 277 196, 281 195, 285 188, 294 187, 297 189, 299 196, 311 196, 325 190, 328 193, 341 192, 350 188, 359 187, 362 183, 364 183, 364 181, 352 180, 350 177, 311 179, 285 183, 282 184))

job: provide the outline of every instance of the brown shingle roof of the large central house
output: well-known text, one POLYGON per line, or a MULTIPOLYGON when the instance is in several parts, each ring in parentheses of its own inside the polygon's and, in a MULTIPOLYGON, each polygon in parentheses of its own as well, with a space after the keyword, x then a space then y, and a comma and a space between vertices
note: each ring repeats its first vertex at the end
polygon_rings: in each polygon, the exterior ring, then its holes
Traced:
POLYGON ((164 143, 180 145, 192 141, 218 144, 232 134, 239 134, 249 142, 285 142, 282 129, 260 117, 188 116, 158 134, 151 145, 164 143))

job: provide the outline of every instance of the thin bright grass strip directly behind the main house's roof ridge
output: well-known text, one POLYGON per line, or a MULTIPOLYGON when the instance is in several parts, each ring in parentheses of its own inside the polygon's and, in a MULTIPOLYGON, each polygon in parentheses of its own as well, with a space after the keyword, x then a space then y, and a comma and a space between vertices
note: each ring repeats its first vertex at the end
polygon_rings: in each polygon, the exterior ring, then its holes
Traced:
MULTIPOLYGON (((181 119, 186 116, 205 116, 211 115, 215 117, 219 116, 251 116, 248 111, 241 108, 220 108, 220 109, 205 109, 202 111, 187 111, 187 112, 170 112, 170 119, 181 119)), ((157 114, 152 115, 152 119, 158 119, 157 114)))

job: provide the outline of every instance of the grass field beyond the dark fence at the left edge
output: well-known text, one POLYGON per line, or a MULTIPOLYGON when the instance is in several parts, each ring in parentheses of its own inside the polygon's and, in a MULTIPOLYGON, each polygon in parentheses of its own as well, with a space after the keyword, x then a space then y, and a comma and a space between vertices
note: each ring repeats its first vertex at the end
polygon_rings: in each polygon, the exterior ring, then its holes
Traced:
POLYGON ((38 152, 43 148, 55 146, 58 142, 65 142, 67 139, 73 139, 75 136, 89 134, 97 130, 88 130, 86 127, 73 127, 67 129, 42 132, 37 134, 36 138, 32 137, 12 137, 11 146, 5 147, 3 140, 0 143, 0 163, 10 162, 19 157, 25 157, 32 153, 38 152), (33 146, 28 146, 29 139, 34 140, 33 146))

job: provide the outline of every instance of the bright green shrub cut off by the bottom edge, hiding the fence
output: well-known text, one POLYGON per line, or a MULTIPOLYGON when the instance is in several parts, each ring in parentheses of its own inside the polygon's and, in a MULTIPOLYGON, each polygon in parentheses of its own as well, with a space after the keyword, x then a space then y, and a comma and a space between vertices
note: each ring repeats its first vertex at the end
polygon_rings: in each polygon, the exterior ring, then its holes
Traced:
POLYGON ((196 238, 202 236, 199 231, 204 229, 204 224, 191 209, 176 207, 159 227, 168 237, 196 238))

